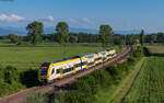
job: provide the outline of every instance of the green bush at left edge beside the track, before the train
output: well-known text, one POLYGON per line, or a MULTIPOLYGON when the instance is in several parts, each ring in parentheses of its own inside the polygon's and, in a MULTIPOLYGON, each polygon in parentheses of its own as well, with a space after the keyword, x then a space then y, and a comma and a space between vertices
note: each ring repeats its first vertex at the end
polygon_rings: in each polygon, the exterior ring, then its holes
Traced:
POLYGON ((0 68, 0 96, 14 93, 23 88, 16 68, 11 66, 0 68))

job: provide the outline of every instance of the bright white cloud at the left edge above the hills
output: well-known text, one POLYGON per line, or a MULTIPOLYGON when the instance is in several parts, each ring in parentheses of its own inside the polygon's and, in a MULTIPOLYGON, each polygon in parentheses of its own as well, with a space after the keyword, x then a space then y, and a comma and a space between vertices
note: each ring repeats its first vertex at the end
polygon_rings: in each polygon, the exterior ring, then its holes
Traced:
POLYGON ((4 13, 0 14, 0 21, 21 21, 21 20, 25 20, 25 18, 16 14, 11 15, 7 15, 4 13))

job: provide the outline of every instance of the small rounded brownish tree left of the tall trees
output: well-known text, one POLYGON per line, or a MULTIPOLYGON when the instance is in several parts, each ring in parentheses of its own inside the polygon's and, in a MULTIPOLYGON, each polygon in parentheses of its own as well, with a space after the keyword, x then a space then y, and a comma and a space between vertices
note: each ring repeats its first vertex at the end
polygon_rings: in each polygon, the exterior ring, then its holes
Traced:
POLYGON ((22 42, 21 36, 16 35, 14 33, 10 33, 9 38, 10 38, 11 43, 21 44, 21 42, 22 42))

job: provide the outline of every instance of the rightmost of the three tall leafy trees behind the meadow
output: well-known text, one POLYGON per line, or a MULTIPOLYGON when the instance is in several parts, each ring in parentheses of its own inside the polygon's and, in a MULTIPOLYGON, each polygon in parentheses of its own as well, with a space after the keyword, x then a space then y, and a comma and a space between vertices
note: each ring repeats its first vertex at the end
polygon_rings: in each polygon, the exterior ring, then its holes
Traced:
POLYGON ((107 46, 112 43, 113 28, 109 25, 101 25, 99 27, 99 36, 102 41, 103 47, 107 46))

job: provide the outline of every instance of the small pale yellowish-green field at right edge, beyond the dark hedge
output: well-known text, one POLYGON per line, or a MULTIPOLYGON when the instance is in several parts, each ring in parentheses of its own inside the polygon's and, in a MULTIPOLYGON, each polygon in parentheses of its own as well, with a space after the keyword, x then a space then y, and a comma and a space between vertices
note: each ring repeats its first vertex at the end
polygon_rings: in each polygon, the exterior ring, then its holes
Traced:
POLYGON ((151 53, 164 53, 164 46, 147 46, 151 53))

